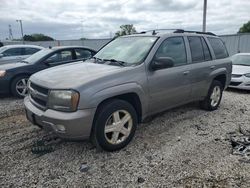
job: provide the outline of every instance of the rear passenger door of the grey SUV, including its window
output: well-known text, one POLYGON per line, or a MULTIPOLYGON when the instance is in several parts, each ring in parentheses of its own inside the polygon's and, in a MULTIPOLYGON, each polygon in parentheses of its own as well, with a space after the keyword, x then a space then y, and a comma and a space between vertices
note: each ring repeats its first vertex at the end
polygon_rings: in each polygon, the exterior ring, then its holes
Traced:
POLYGON ((207 95, 209 75, 212 66, 212 56, 206 40, 201 36, 189 36, 192 70, 190 79, 192 85, 191 98, 193 100, 207 95))

